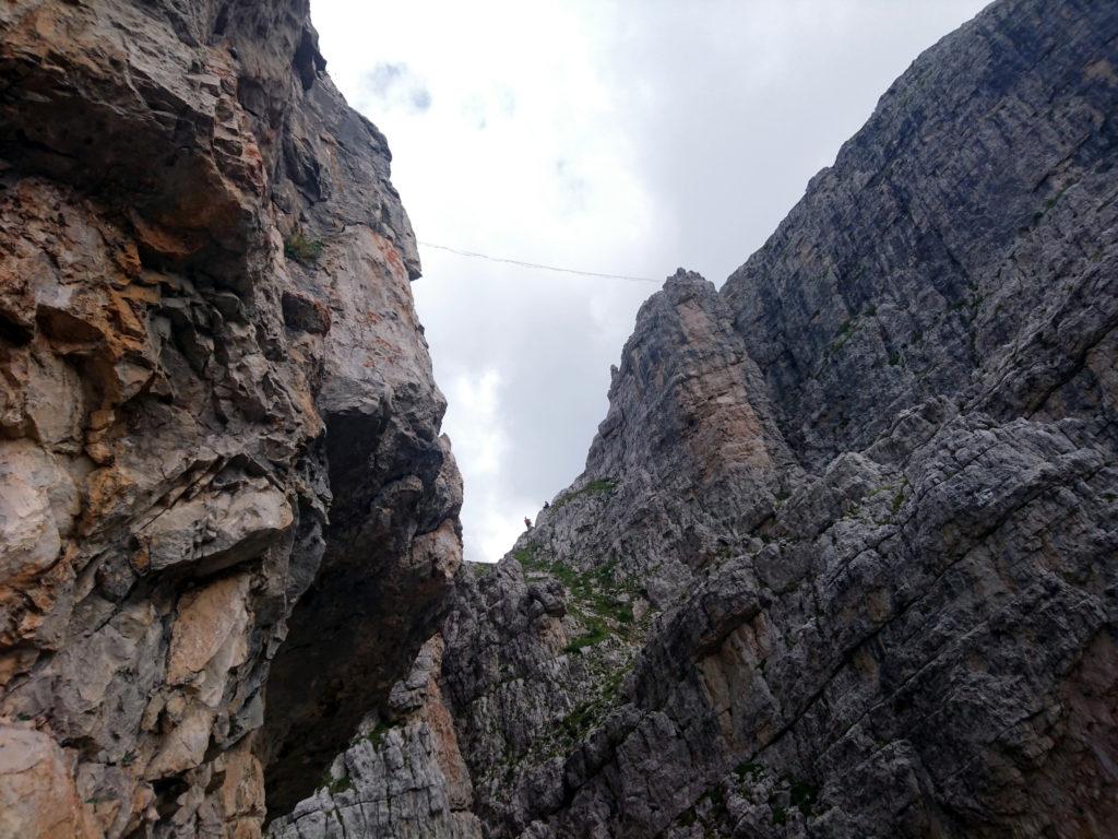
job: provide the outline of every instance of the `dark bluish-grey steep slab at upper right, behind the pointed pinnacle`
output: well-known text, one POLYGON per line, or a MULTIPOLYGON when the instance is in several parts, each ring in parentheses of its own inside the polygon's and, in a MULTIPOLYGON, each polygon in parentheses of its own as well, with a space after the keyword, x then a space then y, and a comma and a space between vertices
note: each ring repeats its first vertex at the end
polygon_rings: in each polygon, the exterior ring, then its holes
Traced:
POLYGON ((992 4, 893 84, 727 282, 804 461, 938 395, 999 420, 1112 416, 1096 360, 1116 317, 1109 11, 992 4))

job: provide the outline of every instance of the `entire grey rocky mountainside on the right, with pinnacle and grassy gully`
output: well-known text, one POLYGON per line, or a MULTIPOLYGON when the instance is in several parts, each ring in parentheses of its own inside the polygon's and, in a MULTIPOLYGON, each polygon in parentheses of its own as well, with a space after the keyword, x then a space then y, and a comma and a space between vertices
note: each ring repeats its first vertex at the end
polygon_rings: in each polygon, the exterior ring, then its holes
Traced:
POLYGON ((921 56, 272 835, 1111 836, 1116 106, 1112 3, 921 56))

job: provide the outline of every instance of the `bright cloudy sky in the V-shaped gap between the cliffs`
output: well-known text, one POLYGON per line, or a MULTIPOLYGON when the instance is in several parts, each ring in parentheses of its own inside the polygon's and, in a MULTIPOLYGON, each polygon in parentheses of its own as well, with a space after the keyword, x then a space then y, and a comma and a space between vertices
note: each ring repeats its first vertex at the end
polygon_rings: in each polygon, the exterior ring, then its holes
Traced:
MULTIPOLYGON (((388 136, 420 241, 720 285, 892 79, 984 4, 312 0, 312 15, 335 84, 388 136)), ((495 560, 581 472, 657 284, 420 256, 466 558, 495 560)))

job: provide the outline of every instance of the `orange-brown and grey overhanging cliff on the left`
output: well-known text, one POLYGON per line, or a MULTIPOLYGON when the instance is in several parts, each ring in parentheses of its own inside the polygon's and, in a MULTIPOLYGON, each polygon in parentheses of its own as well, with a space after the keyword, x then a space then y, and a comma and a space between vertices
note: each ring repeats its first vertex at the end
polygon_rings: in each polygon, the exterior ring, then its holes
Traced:
POLYGON ((324 66, 304 0, 0 9, 2 837, 259 836, 437 625, 415 241, 324 66))

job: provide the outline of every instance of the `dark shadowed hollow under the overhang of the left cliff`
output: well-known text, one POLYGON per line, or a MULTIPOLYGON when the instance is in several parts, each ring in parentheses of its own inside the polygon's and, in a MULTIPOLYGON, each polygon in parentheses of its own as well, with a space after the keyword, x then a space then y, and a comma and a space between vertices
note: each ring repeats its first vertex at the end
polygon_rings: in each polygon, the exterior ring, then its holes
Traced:
POLYGON ((432 486, 443 454, 436 441, 410 440, 400 451, 395 434, 391 418, 380 413, 326 416, 334 502, 325 548, 267 682, 269 819, 313 793, 362 718, 382 707, 407 675, 440 618, 443 581, 413 567, 409 555, 429 499, 426 490, 400 491, 399 484, 401 475, 418 473, 427 479, 423 486, 432 486), (401 458, 407 470, 398 465, 401 458))

